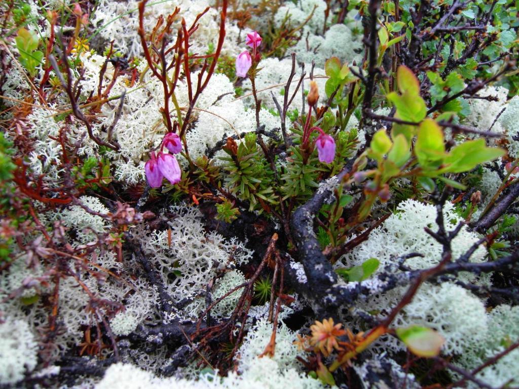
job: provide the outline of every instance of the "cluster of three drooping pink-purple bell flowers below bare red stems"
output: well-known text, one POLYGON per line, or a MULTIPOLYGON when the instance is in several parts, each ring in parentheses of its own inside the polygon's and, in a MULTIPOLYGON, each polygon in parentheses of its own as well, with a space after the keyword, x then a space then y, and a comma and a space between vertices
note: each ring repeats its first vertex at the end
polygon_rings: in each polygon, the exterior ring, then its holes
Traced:
POLYGON ((182 172, 179 162, 173 155, 178 154, 180 151, 182 151, 182 143, 179 135, 173 132, 166 134, 162 140, 159 154, 155 156, 155 151, 152 151, 151 158, 144 166, 149 186, 152 188, 160 187, 162 185, 162 179, 165 177, 171 185, 180 182, 182 172), (164 147, 172 154, 163 152, 164 147))

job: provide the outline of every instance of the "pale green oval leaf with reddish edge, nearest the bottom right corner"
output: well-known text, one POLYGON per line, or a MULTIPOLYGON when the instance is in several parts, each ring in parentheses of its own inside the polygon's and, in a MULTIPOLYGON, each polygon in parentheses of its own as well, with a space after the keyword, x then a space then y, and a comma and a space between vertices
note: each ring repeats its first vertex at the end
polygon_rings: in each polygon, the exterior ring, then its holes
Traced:
POLYGON ((440 354, 445 339, 438 332, 427 327, 411 326, 396 329, 398 337, 409 351, 419 357, 433 357, 440 354))

